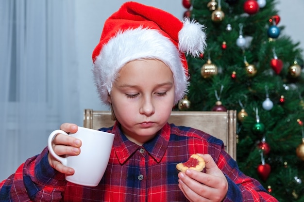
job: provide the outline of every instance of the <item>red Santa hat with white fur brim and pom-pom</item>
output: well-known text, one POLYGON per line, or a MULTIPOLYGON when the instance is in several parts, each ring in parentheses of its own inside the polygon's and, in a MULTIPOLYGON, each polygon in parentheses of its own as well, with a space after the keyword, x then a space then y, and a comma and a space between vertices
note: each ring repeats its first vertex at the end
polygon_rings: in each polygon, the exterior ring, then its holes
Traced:
POLYGON ((172 71, 175 103, 187 93, 186 54, 197 57, 206 46, 203 25, 137 2, 126 2, 104 23, 92 58, 93 74, 101 101, 108 95, 127 62, 158 59, 172 71))

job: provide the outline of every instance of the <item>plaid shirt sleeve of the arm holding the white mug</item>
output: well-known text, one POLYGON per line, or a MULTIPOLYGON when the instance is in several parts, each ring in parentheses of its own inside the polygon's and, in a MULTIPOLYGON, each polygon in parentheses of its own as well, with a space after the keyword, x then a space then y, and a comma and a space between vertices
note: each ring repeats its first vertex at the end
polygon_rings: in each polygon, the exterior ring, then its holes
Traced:
POLYGON ((17 171, 0 183, 1 202, 59 202, 65 190, 65 175, 51 168, 48 149, 27 159, 17 171))

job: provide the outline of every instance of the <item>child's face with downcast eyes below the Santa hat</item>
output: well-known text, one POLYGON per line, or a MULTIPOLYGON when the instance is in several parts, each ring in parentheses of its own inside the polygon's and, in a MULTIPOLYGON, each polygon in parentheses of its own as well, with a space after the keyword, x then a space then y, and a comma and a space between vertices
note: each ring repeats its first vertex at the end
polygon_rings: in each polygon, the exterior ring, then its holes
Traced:
POLYGON ((158 60, 136 60, 119 71, 109 102, 126 137, 141 145, 168 121, 174 105, 173 75, 158 60))

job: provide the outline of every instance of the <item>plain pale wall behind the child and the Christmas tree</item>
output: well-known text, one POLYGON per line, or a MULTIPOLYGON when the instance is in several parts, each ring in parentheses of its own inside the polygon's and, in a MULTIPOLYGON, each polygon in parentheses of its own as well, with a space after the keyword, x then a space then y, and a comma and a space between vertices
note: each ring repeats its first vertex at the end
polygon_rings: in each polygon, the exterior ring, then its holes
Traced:
MULTIPOLYGON (((76 2, 76 31, 77 31, 77 50, 79 62, 79 87, 80 87, 80 111, 85 108, 91 109, 107 109, 101 105, 96 88, 92 80, 91 53, 97 45, 103 23, 105 19, 113 12, 117 11, 119 6, 126 0, 85 0, 76 2)), ((178 18, 182 18, 186 9, 182 5, 182 0, 137 0, 140 3, 152 5, 168 11, 178 18)), ((277 9, 278 15, 281 17, 279 25, 285 25, 286 30, 283 31, 292 37, 295 42, 300 41, 304 49, 304 40, 302 33, 304 27, 301 26, 300 20, 304 18, 302 12, 304 8, 303 0, 290 1, 281 0, 277 9)), ((282 33, 282 34, 283 34, 282 33)), ((82 117, 79 123, 82 125, 82 117)))

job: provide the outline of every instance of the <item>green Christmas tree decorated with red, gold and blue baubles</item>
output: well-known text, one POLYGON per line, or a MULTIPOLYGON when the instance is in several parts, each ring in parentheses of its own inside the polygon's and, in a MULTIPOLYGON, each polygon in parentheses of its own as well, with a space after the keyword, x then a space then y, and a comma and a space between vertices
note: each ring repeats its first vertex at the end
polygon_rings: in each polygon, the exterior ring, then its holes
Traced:
POLYGON ((183 0, 205 25, 207 49, 188 57, 192 111, 237 111, 237 162, 281 202, 304 202, 304 75, 274 0, 183 0))

